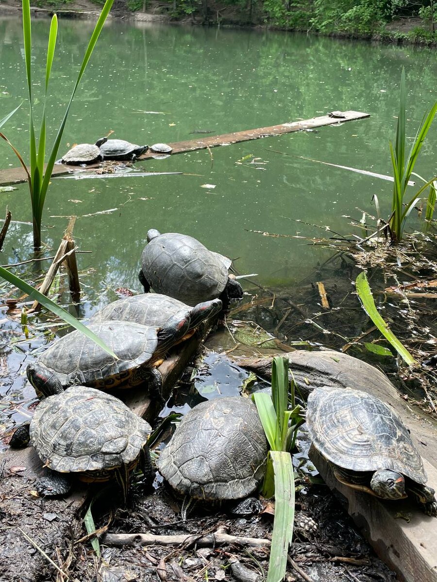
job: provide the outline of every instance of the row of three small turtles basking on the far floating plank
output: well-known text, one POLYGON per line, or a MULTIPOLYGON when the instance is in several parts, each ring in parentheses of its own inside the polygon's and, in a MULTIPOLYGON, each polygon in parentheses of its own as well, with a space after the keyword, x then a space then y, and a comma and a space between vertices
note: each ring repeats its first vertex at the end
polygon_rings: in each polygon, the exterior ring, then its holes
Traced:
POLYGON ((145 154, 147 150, 159 157, 169 155, 172 152, 170 145, 164 143, 153 144, 149 147, 149 145, 133 144, 126 140, 108 140, 107 137, 101 137, 95 144, 73 145, 59 162, 73 166, 96 164, 105 159, 133 162, 140 155, 145 154))

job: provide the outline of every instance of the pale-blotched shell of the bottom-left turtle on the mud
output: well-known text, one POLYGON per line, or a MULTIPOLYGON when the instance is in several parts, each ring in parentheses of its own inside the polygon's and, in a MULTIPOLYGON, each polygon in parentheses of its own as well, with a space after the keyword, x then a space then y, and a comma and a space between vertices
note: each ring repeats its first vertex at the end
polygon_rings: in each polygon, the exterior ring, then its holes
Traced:
POLYGON ((115 396, 72 386, 38 404, 30 423, 30 441, 54 471, 105 471, 129 465, 151 432, 115 396))

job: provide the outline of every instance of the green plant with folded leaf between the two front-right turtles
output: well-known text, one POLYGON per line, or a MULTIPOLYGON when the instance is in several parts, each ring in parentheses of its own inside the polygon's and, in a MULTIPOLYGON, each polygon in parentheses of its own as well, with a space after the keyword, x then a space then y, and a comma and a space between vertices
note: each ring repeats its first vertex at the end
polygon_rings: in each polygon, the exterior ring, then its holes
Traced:
POLYGON ((288 410, 288 360, 275 357, 272 362, 272 396, 255 393, 270 452, 263 484, 265 497, 275 496, 275 512, 267 582, 284 578, 288 545, 294 521, 294 471, 290 451, 294 448, 297 428, 304 422, 301 406, 296 405, 294 382, 291 382, 291 410, 288 410))

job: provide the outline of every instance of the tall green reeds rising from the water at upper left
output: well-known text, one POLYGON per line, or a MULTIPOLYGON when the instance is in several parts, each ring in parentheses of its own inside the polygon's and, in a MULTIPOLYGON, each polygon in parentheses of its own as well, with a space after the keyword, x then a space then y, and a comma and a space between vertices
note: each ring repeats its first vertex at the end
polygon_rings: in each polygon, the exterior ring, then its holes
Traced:
POLYGON ((100 36, 101 29, 107 19, 108 13, 111 10, 112 2, 114 0, 106 0, 103 6, 100 16, 98 17, 96 26, 94 27, 93 34, 91 34, 90 41, 88 43, 85 55, 83 57, 82 66, 80 67, 79 73, 77 74, 77 79, 75 86, 73 88, 73 93, 71 95, 70 101, 66 107, 64 118, 62 119, 61 126, 58 129, 57 136, 55 137, 54 144, 52 145, 50 154, 47 159, 47 166, 44 168, 45 162, 45 145, 46 145, 46 130, 47 130, 47 119, 45 106, 47 102, 48 95, 48 84, 50 81, 52 64, 55 54, 56 41, 58 36, 58 18, 56 15, 52 17, 50 24, 50 31, 48 34, 48 46, 47 46, 47 64, 45 68, 45 93, 44 93, 44 105, 43 105, 43 115, 41 118, 40 134, 37 137, 33 122, 33 107, 34 100, 32 95, 33 79, 31 76, 31 23, 30 23, 30 3, 29 0, 23 0, 23 37, 24 37, 24 61, 26 63, 26 77, 27 77, 27 89, 29 91, 29 103, 30 103, 30 131, 29 131, 29 150, 30 150, 30 169, 27 168, 24 163, 22 155, 16 150, 15 147, 10 143, 10 141, 0 133, 0 137, 8 142, 10 147, 17 155, 20 164, 23 166, 24 171, 27 174, 27 182, 29 184, 30 190, 30 200, 32 206, 32 222, 33 222, 33 246, 34 249, 40 249, 41 247, 41 219, 43 216, 45 196, 47 194, 47 189, 50 184, 51 174, 53 166, 55 164, 59 145, 61 144, 62 133, 64 133, 64 127, 66 120, 68 118, 68 113, 71 108, 73 97, 75 96, 77 87, 79 87, 80 80, 82 79, 84 70, 90 60, 91 54, 93 53, 94 47, 98 37, 100 36))

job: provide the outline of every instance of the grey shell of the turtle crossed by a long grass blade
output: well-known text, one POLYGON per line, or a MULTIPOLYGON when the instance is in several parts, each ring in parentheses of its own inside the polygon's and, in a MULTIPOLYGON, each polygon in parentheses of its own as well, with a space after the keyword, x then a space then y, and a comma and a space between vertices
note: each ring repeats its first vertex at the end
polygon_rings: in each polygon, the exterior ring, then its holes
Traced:
POLYGON ((108 321, 89 325, 89 329, 103 339, 118 360, 83 333, 68 333, 38 358, 38 363, 55 372, 62 386, 116 386, 156 355, 156 327, 130 321, 108 321))

